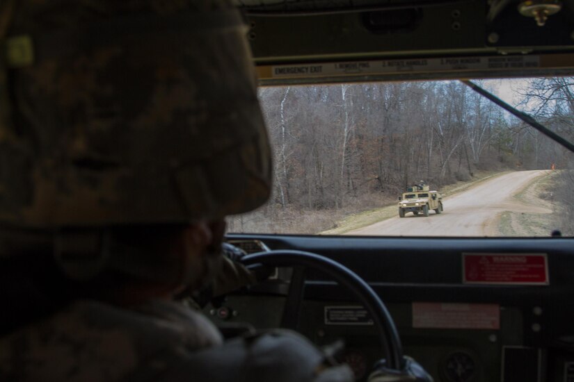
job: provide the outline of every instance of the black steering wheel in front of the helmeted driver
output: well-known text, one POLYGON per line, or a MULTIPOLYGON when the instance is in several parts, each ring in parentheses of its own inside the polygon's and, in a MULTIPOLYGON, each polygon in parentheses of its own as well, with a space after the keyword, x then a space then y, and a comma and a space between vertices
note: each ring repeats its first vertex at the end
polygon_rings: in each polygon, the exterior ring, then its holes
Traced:
POLYGON ((289 285, 289 295, 283 315, 284 324, 285 319, 297 317, 301 309, 301 299, 303 298, 305 286, 305 268, 317 269, 328 274, 340 285, 349 289, 371 315, 373 323, 378 329, 378 340, 381 343, 381 348, 387 354, 385 367, 394 370, 404 369, 405 358, 399 333, 385 304, 383 304, 383 301, 381 301, 369 284, 351 269, 324 256, 287 249, 247 255, 241 258, 241 263, 250 268, 260 265, 294 267, 294 274, 289 285))

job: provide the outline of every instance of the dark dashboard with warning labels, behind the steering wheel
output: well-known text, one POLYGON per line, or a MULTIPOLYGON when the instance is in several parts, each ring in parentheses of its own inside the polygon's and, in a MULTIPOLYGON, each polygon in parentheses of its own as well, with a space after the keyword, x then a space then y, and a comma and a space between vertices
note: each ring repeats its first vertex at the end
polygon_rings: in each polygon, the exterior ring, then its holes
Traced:
MULTIPOLYGON (((232 234, 228 241, 250 253, 310 251, 356 272, 390 311, 404 354, 435 381, 574 381, 571 239, 232 234)), ((298 315, 285 324, 293 274, 281 268, 207 313, 224 326, 296 329, 365 380, 385 358, 366 310, 349 290, 308 269, 298 315)))

